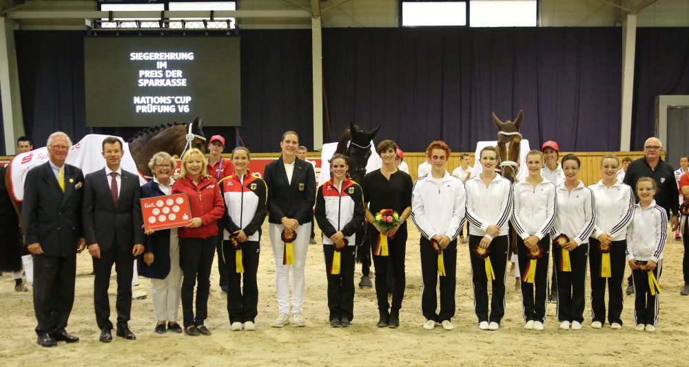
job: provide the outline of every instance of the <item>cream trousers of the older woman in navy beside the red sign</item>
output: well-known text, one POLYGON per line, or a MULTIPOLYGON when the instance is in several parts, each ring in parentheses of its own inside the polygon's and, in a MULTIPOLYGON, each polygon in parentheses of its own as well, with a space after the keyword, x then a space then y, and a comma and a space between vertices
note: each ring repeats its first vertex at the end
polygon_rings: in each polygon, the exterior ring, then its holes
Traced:
POLYGON ((182 269, 179 267, 179 240, 176 236, 177 231, 174 232, 174 237, 170 236, 170 272, 165 279, 151 279, 151 298, 156 321, 177 321, 182 269))

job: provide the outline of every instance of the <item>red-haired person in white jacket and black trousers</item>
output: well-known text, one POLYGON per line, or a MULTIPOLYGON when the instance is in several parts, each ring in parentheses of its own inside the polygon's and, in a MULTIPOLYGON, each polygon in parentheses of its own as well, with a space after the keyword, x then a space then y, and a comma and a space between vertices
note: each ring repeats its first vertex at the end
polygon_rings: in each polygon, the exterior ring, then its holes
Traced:
POLYGON ((431 174, 414 184, 411 195, 411 217, 421 232, 421 275, 423 290, 421 312, 426 318, 424 329, 433 330, 440 324, 452 330, 455 315, 455 275, 457 270, 457 235, 464 228, 466 194, 462 180, 446 171, 450 148, 444 141, 433 141, 426 148, 431 174), (440 269, 440 313, 435 285, 440 269))

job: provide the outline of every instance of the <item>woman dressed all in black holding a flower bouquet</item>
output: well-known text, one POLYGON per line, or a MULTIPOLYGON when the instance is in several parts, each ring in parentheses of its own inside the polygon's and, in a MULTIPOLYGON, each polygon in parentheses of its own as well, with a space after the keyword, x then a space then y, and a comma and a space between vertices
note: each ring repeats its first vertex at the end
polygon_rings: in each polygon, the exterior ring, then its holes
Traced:
POLYGON ((397 143, 392 140, 383 140, 378 143, 376 152, 382 159, 382 167, 364 176, 362 188, 364 189, 364 204, 366 221, 369 222, 367 230, 371 250, 373 250, 373 265, 376 266, 376 297, 378 297, 377 326, 384 328, 398 328, 400 326, 400 308, 404 298, 406 278, 404 275, 404 256, 407 252, 407 219, 411 215, 411 190, 413 184, 411 176, 395 167, 397 155, 397 143), (400 223, 384 230, 375 224, 375 215, 382 209, 390 209, 398 213, 400 223), (381 250, 376 255, 376 244, 380 237, 387 237, 388 255, 381 250), (388 303, 388 266, 392 267, 394 287, 392 292, 392 304, 388 303))

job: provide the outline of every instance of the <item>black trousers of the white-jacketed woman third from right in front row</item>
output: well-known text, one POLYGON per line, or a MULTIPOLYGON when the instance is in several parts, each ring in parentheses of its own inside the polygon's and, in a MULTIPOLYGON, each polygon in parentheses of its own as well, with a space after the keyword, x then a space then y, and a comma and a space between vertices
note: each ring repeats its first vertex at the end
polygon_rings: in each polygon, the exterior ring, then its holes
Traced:
POLYGON ((559 321, 584 321, 584 288, 586 287, 586 257, 588 244, 581 244, 569 252, 572 271, 562 271, 562 248, 553 244, 555 253, 555 279, 557 280, 557 319, 559 321))

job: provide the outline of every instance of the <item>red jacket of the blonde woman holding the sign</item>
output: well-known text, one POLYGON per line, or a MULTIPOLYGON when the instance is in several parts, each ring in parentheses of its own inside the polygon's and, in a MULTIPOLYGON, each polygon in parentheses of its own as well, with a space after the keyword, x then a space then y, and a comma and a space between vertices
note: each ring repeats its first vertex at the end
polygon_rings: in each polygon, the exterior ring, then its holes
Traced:
POLYGON ((192 217, 203 221, 197 228, 179 228, 179 237, 208 238, 218 235, 216 221, 225 213, 225 202, 220 196, 220 186, 213 177, 202 177, 198 185, 194 185, 191 177, 180 178, 172 184, 172 193, 187 194, 192 217))

